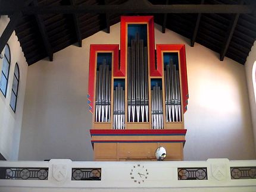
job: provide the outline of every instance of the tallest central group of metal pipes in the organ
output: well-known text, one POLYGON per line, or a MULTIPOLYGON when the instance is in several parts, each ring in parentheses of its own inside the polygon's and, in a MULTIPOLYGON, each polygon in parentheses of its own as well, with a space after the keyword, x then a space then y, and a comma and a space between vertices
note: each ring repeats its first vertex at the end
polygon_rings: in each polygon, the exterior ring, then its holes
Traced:
POLYGON ((127 57, 128 122, 148 122, 148 51, 138 33, 127 57))

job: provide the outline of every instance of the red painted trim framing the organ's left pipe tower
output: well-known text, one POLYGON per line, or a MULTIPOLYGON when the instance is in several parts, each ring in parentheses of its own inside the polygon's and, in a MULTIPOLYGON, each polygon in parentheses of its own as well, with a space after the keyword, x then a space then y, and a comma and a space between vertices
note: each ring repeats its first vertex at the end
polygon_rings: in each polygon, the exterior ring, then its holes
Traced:
POLYGON ((113 72, 117 73, 119 60, 119 45, 90 45, 90 61, 89 61, 89 80, 88 80, 88 105, 90 112, 94 112, 94 92, 95 92, 95 63, 96 52, 114 52, 113 53, 113 72))

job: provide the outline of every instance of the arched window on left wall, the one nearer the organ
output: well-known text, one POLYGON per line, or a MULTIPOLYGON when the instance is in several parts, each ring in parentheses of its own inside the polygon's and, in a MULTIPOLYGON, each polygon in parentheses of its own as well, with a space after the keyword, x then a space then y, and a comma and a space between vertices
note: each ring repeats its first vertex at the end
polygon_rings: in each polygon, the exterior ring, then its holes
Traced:
POLYGON ((13 75, 13 87, 11 88, 11 101, 10 106, 13 111, 16 111, 17 97, 18 97, 18 81, 20 80, 20 70, 16 62, 13 75))

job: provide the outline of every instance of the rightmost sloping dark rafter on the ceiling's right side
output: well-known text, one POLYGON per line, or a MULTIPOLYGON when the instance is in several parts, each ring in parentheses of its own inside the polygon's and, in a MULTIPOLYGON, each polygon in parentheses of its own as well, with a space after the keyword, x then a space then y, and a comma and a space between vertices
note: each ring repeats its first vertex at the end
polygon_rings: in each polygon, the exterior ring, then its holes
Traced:
MULTIPOLYGON (((239 3, 242 5, 243 1, 241 0, 239 3)), ((225 37, 225 40, 223 42, 223 46, 222 46, 221 51, 220 51, 220 61, 224 60, 227 49, 229 48, 229 43, 230 43, 230 41, 233 37, 233 33, 235 32, 235 28, 236 28, 236 24, 238 23, 239 15, 240 14, 235 14, 233 16, 232 20, 230 21, 229 29, 226 33, 226 37, 225 37)))

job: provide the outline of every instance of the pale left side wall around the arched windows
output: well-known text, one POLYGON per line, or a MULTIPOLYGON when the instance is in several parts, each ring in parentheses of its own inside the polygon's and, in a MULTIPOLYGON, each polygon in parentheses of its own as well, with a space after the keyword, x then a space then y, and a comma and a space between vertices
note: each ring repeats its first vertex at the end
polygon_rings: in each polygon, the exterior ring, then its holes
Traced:
MULTIPOLYGON (((0 35, 8 22, 9 18, 7 16, 1 16, 0 35)), ((17 160, 27 79, 27 62, 21 51, 20 43, 18 42, 17 36, 15 36, 15 32, 8 40, 8 45, 11 51, 11 65, 6 98, 2 95, 2 92, 0 92, 0 153, 2 153, 7 160, 17 160), (17 108, 14 114, 13 109, 10 107, 10 99, 16 62, 20 68, 20 84, 18 86, 17 108)), ((0 69, 2 69, 2 59, 0 62, 0 69)))

